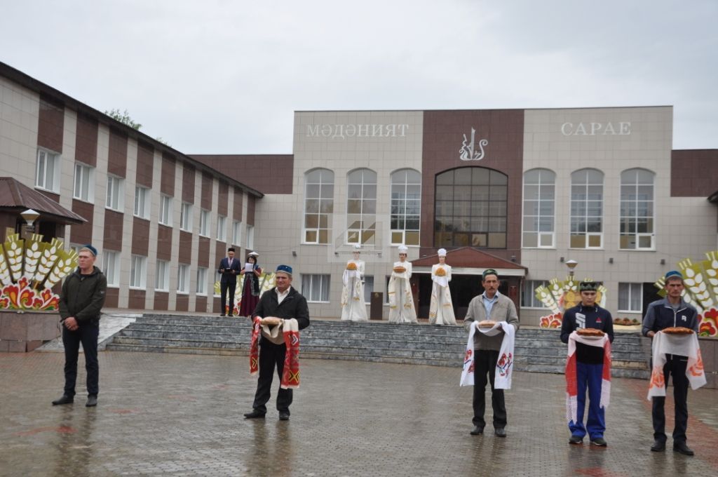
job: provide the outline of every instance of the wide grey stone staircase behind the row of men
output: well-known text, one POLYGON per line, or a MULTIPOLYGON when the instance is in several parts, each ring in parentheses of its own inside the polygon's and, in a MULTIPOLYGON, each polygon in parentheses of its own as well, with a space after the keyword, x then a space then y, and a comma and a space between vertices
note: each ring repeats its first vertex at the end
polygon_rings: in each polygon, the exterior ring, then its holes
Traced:
MULTIPOLYGON (((159 353, 246 356, 251 326, 244 318, 143 315, 115 336, 107 349, 159 353)), ((462 366, 467 333, 462 326, 395 325, 313 320, 302 330, 304 358, 462 366)), ((612 374, 648 378, 650 343, 636 333, 617 333, 612 374)), ((567 346, 557 330, 521 328, 516 335, 516 369, 563 373, 567 346)))

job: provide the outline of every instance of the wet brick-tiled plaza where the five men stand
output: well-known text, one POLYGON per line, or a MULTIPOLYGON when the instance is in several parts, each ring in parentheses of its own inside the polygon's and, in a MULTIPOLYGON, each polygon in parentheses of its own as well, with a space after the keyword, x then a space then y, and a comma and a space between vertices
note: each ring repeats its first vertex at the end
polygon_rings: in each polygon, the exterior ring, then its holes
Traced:
POLYGON ((568 445, 556 374, 514 376, 500 439, 490 425, 469 435, 472 389, 458 386, 457 368, 305 359, 291 420, 280 422, 274 395, 266 420, 243 420, 256 386, 246 357, 102 352, 96 408, 85 407, 84 369, 75 404, 50 405, 62 394, 62 361, 0 355, 0 475, 718 474, 717 390, 689 392, 691 458, 673 453, 670 437, 665 453, 650 452, 647 383, 633 379, 612 381, 602 449, 568 445))

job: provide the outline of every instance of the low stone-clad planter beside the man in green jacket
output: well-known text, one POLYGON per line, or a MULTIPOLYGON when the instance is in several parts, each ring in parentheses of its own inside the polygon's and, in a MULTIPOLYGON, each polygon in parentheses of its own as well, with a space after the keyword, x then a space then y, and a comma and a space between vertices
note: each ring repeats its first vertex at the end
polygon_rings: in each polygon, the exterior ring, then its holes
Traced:
POLYGON ((60 336, 57 312, 0 310, 0 353, 32 351, 60 336))

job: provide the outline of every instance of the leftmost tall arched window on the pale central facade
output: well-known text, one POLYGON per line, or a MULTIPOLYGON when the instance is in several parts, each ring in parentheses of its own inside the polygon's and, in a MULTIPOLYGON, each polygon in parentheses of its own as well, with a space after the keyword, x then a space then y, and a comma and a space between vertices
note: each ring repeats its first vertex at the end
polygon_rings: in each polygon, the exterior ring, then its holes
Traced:
POLYGON ((329 244, 334 212, 334 172, 314 169, 304 175, 304 243, 329 244))

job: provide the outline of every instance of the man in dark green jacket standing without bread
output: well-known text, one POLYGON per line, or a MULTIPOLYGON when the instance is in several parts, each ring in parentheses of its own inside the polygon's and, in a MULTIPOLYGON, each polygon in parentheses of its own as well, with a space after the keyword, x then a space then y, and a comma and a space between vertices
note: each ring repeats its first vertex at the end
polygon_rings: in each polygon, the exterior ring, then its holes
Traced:
POLYGON ((97 249, 85 245, 78 254, 79 267, 62 284, 60 293, 60 321, 62 344, 65 346, 65 392, 52 402, 70 404, 75 400, 75 380, 78 377, 80 343, 85 352, 88 401, 85 406, 97 405, 100 366, 97 361, 97 338, 100 334, 100 311, 105 304, 107 278, 95 267, 97 249))

